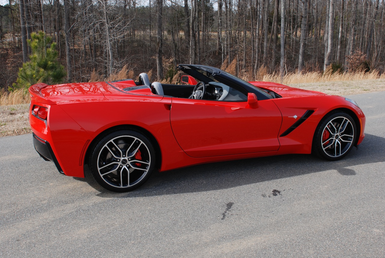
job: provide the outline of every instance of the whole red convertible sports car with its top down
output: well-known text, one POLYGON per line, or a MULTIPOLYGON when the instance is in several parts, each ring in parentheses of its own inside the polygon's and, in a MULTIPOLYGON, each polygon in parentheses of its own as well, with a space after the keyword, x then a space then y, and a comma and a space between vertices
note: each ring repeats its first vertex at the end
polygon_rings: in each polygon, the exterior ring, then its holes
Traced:
POLYGON ((364 138, 365 116, 345 97, 205 65, 178 69, 181 85, 150 84, 145 73, 137 82, 32 85, 36 151, 67 176, 84 177, 88 164, 101 186, 124 192, 154 169, 292 153, 335 161, 364 138))

